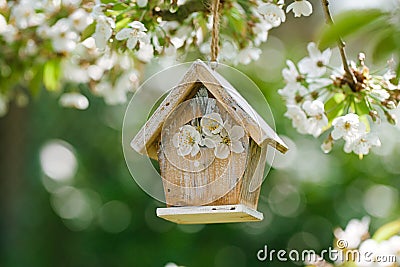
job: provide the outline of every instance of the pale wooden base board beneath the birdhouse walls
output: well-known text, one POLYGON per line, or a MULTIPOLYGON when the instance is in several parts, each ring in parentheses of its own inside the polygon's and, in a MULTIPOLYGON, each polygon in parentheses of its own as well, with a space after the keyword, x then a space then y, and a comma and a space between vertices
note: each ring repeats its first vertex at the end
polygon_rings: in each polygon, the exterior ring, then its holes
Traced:
POLYGON ((178 224, 257 222, 264 216, 245 205, 158 208, 157 216, 178 224))

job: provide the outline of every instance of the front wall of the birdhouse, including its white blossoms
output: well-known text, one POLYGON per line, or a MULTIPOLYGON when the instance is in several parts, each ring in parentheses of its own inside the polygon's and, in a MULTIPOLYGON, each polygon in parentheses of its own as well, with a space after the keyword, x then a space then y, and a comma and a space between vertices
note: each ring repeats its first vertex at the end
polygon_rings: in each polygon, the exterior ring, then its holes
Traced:
POLYGON ((249 135, 207 90, 195 95, 164 122, 158 151, 169 206, 234 204, 246 170, 249 135))

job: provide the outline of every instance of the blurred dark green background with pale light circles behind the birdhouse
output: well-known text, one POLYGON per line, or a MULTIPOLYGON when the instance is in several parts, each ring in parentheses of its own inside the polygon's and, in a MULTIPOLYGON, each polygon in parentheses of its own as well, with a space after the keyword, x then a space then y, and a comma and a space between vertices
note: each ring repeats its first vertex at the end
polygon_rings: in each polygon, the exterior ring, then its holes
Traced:
MULTIPOLYGON (((337 2, 334 12, 345 1, 337 2)), ((257 251, 268 245, 318 252, 351 218, 371 216, 372 232, 396 219, 399 128, 382 125, 382 147, 359 160, 340 146, 323 154, 323 136, 301 136, 283 117, 281 70, 286 58, 304 57, 315 39, 322 15, 313 4, 310 18, 288 15, 270 32, 261 59, 239 67, 263 91, 290 147, 262 186, 263 222, 182 226, 157 218, 164 204, 144 193, 125 165, 126 105, 106 106, 92 96, 86 111, 63 109, 42 92, 0 118, 0 266, 296 266, 260 262, 257 251)), ((350 58, 361 50, 368 59, 363 40, 348 43, 350 58)), ((148 75, 156 71, 148 66, 148 75)))

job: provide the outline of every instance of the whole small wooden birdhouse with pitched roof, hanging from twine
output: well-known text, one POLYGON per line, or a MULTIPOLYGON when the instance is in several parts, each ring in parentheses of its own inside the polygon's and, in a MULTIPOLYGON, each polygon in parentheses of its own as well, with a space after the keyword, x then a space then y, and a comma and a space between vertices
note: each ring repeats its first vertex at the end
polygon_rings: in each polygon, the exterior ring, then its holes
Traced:
POLYGON ((267 149, 287 146, 220 74, 202 61, 186 72, 131 142, 159 162, 166 208, 181 223, 260 221, 267 149))

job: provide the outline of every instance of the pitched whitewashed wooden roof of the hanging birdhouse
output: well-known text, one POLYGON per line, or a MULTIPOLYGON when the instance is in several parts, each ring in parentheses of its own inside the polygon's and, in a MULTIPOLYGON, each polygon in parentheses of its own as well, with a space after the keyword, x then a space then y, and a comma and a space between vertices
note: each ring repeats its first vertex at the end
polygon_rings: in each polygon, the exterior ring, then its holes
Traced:
POLYGON ((245 131, 259 146, 270 145, 281 153, 288 150, 286 144, 276 132, 239 92, 219 73, 200 60, 192 64, 181 82, 169 92, 150 119, 140 129, 131 142, 133 149, 143 155, 157 159, 158 137, 165 120, 179 104, 193 93, 191 92, 194 88, 193 85, 197 82, 203 83, 226 111, 232 114, 233 118, 239 118, 237 123, 243 125, 245 131))

